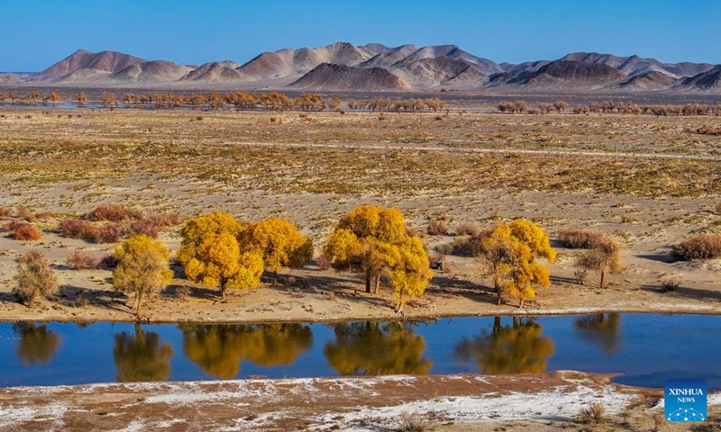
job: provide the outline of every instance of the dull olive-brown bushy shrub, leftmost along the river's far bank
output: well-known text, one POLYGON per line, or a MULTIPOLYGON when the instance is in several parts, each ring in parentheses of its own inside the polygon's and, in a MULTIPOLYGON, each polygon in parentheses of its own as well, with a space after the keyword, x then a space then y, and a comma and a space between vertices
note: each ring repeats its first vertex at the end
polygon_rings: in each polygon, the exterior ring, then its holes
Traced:
POLYGON ((58 276, 42 252, 28 252, 18 259, 17 283, 13 288, 22 302, 32 302, 39 296, 50 297, 59 289, 58 276))

